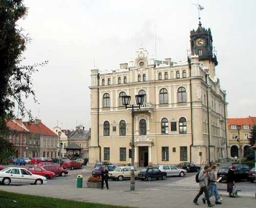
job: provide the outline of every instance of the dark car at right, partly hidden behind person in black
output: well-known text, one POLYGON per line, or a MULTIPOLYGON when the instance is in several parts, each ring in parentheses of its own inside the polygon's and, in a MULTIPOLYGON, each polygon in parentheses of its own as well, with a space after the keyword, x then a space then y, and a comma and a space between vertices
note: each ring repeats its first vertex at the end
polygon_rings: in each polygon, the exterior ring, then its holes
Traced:
MULTIPOLYGON (((217 172, 217 177, 222 177, 221 181, 227 180, 227 172, 230 168, 220 168, 217 172)), ((248 171, 244 171, 241 168, 237 168, 236 171, 234 171, 234 180, 248 180, 248 171)))

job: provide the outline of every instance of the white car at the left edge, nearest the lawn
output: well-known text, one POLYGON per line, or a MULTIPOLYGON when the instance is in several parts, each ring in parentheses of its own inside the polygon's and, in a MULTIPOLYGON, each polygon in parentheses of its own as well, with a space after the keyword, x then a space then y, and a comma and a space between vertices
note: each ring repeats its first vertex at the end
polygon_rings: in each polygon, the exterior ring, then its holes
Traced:
POLYGON ((3 185, 14 184, 47 184, 47 179, 41 175, 34 175, 25 168, 9 167, 0 171, 0 182, 3 185))

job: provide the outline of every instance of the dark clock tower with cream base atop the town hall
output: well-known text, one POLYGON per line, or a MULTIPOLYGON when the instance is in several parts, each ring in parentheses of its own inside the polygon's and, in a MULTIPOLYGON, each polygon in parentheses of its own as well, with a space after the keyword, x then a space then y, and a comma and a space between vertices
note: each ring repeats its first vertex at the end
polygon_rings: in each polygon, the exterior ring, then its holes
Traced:
POLYGON ((212 51, 212 36, 210 29, 206 30, 199 21, 198 29, 190 31, 191 54, 198 55, 199 61, 209 69, 210 76, 215 76, 215 66, 218 65, 217 57, 212 51))

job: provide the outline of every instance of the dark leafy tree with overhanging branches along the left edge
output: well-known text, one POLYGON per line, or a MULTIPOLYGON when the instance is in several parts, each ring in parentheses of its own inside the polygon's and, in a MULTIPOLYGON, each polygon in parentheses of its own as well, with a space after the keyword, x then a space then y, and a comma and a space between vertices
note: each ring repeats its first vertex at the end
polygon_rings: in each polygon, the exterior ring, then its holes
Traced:
POLYGON ((20 115, 32 118, 23 99, 32 95, 37 102, 31 76, 37 66, 47 64, 22 65, 30 39, 18 28, 17 21, 25 18, 27 12, 23 0, 0 0, 0 152, 5 152, 2 144, 6 142, 6 121, 14 118, 15 103, 20 115))

